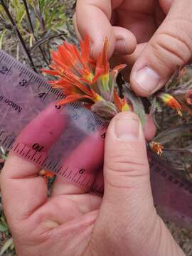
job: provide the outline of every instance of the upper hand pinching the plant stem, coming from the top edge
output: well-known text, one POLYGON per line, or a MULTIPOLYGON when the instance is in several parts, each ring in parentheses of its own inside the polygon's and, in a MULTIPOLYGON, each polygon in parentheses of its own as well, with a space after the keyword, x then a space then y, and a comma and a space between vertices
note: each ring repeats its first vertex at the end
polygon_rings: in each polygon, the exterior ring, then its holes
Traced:
POLYGON ((191 9, 191 0, 78 0, 75 31, 90 35, 94 57, 107 36, 109 57, 119 53, 113 60, 127 63, 132 89, 146 97, 191 59, 191 9))

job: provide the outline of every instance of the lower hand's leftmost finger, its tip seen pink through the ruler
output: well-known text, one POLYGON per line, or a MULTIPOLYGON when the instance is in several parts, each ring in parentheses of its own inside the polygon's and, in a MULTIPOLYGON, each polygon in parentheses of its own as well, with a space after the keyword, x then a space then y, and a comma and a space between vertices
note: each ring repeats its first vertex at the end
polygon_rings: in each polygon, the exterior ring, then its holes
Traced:
MULTIPOLYGON (((54 104, 49 105, 18 135, 14 149, 18 149, 18 144, 23 144, 21 152, 29 156, 29 152, 33 150, 32 145, 36 142, 43 149, 37 157, 46 158, 48 149, 63 133, 66 122, 67 119, 60 110, 56 110, 54 104)), ((38 151, 32 154, 33 159, 36 159, 36 154, 38 151)), ((40 169, 14 153, 9 154, 1 173, 1 190, 6 216, 10 220, 26 218, 45 203, 47 186, 38 175, 40 169)))

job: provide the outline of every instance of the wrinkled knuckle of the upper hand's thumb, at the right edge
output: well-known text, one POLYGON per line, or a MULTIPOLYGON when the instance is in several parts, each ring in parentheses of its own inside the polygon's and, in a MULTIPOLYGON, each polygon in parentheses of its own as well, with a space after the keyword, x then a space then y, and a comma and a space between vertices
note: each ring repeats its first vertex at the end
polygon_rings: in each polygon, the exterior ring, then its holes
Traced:
POLYGON ((174 20, 166 23, 166 27, 151 39, 150 46, 160 64, 167 68, 175 68, 190 60, 192 55, 191 23, 174 20))

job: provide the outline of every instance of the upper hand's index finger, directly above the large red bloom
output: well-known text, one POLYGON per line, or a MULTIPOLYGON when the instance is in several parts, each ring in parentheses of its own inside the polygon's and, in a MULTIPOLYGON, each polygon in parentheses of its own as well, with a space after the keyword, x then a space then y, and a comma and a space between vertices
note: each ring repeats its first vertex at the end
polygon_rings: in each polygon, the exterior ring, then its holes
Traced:
POLYGON ((108 54, 111 56, 115 47, 114 30, 110 23, 112 16, 111 0, 78 0, 76 6, 76 26, 80 36, 90 36, 92 56, 97 57, 102 51, 107 36, 110 41, 108 54))

